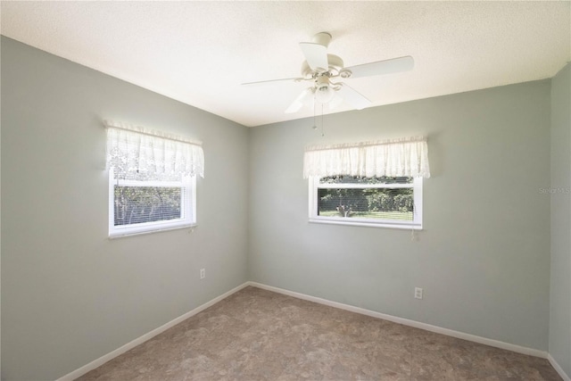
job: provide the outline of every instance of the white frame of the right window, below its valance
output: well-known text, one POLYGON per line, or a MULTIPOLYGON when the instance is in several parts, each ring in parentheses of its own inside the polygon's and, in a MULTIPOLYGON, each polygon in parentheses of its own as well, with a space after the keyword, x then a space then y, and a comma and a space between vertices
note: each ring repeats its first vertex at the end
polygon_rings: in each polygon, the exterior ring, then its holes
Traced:
POLYGON ((405 228, 422 230, 422 194, 423 194, 423 178, 413 177, 412 184, 319 184, 319 176, 310 176, 309 178, 309 222, 334 224, 334 225, 350 225, 350 226, 363 226, 374 228, 405 228), (357 217, 324 217, 319 216, 319 202, 318 195, 319 189, 339 189, 339 188, 353 188, 353 189, 367 189, 367 188, 413 188, 414 189, 414 212, 412 221, 399 221, 394 219, 362 219, 357 217))

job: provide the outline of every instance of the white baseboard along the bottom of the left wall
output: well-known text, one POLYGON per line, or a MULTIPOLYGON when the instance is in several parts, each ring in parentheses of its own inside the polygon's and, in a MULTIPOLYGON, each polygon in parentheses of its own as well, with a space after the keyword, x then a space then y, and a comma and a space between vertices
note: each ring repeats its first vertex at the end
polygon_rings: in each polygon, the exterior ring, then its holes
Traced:
POLYGON ((123 353, 127 352, 128 350, 133 349, 134 347, 136 347, 139 344, 145 343, 145 341, 152 339, 156 335, 161 334, 162 332, 166 331, 170 327, 174 327, 178 323, 182 322, 183 320, 186 320, 186 319, 190 318, 191 316, 196 315, 198 312, 206 310, 207 308, 211 307, 212 305, 216 304, 217 302, 220 302, 222 299, 225 299, 228 296, 230 296, 231 294, 234 294, 237 291, 240 291, 245 286, 249 286, 248 282, 244 283, 243 285, 240 285, 240 286, 237 286, 237 287, 231 289, 227 293, 219 295, 218 297, 212 299, 210 302, 205 302, 203 305, 196 307, 192 311, 186 312, 184 315, 181 315, 176 319, 170 320, 168 323, 163 324, 161 327, 153 329, 151 332, 146 333, 145 335, 137 337, 135 340, 121 346, 120 348, 117 348, 116 350, 114 350, 112 352, 109 352, 109 353, 103 355, 99 359, 96 359, 96 360, 89 362, 87 365, 84 365, 83 367, 76 369, 76 370, 72 371, 71 373, 68 373, 67 375, 65 375, 61 378, 58 378, 56 381, 73 381, 74 379, 85 375, 88 371, 102 366, 105 362, 107 362, 109 360, 113 360, 114 358, 116 358, 120 354, 123 354, 123 353))

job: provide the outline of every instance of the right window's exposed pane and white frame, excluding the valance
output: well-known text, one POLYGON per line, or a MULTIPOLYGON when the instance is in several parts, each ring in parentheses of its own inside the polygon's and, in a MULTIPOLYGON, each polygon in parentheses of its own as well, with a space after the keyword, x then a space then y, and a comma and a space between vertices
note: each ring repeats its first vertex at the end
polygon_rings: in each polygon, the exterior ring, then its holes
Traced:
POLYGON ((422 228, 422 178, 310 178, 310 221, 422 228))

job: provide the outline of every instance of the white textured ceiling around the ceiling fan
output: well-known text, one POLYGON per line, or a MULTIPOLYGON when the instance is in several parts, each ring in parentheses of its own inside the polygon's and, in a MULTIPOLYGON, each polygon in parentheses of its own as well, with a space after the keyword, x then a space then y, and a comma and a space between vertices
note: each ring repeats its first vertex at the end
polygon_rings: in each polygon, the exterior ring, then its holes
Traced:
POLYGON ((0 11, 4 36, 251 127, 313 115, 284 113, 304 84, 240 84, 299 77, 298 43, 317 32, 333 35, 328 53, 345 66, 413 56, 414 70, 346 80, 371 106, 394 104, 552 77, 571 61, 570 4, 2 1, 0 11))

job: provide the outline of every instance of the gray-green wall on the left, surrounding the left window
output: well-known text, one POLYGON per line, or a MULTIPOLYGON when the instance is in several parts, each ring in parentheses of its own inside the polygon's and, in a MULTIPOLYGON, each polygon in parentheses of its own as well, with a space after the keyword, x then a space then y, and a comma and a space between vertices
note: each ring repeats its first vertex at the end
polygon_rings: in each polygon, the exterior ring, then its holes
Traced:
POLYGON ((5 37, 1 95, 3 379, 62 377, 247 280, 247 128, 5 37), (107 238, 102 118, 203 141, 193 233, 107 238))

